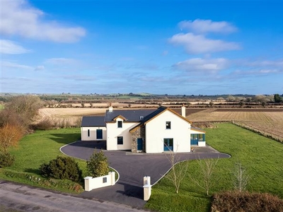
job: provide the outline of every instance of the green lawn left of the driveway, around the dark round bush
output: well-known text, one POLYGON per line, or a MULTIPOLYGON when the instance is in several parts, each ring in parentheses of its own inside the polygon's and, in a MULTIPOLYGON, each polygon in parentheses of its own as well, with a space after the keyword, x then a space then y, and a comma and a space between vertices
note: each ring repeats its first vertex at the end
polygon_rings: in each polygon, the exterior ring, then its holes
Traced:
MULTIPOLYGON (((49 131, 36 131, 34 134, 23 137, 18 147, 12 148, 10 151, 10 153, 15 156, 15 163, 11 167, 0 169, 0 178, 40 187, 48 187, 64 192, 74 192, 68 189, 68 187, 74 184, 70 181, 58 182, 52 187, 52 184, 50 185, 48 183, 46 183, 46 185, 38 184, 37 179, 40 178, 41 182, 42 179, 44 179, 44 177, 40 176, 40 165, 57 158, 57 155, 63 155, 59 151, 59 148, 67 143, 80 139, 80 132, 79 128, 54 129, 49 131), (64 184, 64 186, 60 187, 60 184, 64 184), (69 186, 67 186, 67 184, 69 184, 69 186)), ((83 170, 83 174, 85 174, 86 162, 83 160, 76 161, 79 163, 81 170, 83 170)), ((81 185, 83 184, 81 183, 81 185)))

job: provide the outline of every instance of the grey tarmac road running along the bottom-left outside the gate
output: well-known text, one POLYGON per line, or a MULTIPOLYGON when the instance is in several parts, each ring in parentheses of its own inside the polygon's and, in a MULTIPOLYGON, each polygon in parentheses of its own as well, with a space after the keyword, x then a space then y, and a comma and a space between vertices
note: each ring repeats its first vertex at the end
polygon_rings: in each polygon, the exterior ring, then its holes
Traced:
POLYGON ((23 184, 0 181, 0 211, 142 211, 110 201, 83 199, 61 192, 52 192, 23 184))

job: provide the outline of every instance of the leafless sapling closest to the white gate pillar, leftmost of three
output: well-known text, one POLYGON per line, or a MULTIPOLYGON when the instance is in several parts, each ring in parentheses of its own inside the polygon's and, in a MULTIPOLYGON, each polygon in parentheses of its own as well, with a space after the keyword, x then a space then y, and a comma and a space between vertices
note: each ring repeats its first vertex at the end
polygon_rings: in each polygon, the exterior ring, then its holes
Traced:
POLYGON ((166 156, 168 158, 168 161, 170 162, 171 170, 167 175, 165 175, 165 178, 169 179, 173 183, 175 192, 178 194, 180 184, 187 173, 188 163, 183 162, 183 165, 178 164, 180 163, 180 157, 178 156, 178 153, 173 152, 171 149, 169 149, 169 151, 170 153, 166 156))

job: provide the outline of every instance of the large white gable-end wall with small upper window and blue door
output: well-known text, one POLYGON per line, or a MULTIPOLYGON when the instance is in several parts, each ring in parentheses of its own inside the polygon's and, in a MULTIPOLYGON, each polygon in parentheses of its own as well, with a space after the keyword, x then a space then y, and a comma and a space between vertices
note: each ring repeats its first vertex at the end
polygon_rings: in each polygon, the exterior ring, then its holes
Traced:
POLYGON ((173 139, 173 151, 190 152, 190 123, 165 111, 146 123, 146 153, 163 153, 163 139, 173 139), (166 129, 171 122, 171 129, 166 129))

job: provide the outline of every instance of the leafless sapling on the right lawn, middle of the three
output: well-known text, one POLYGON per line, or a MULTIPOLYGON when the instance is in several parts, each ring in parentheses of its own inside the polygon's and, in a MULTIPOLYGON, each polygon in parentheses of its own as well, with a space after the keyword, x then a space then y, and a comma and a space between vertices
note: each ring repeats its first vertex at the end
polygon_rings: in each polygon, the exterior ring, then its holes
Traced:
POLYGON ((207 192, 207 196, 209 195, 209 189, 211 189, 216 182, 216 180, 212 181, 212 175, 214 174, 218 160, 219 158, 217 158, 216 160, 209 158, 199 158, 197 160, 197 163, 200 166, 200 175, 198 175, 197 178, 193 178, 190 175, 192 181, 207 192))

